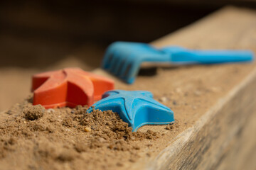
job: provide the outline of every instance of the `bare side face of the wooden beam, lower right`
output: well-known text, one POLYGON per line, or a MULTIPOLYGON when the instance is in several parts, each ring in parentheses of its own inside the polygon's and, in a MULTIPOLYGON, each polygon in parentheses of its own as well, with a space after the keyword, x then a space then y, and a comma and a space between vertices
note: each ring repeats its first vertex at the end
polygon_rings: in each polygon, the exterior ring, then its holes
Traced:
POLYGON ((256 138, 252 134, 256 130, 255 86, 256 69, 210 108, 196 125, 178 135, 177 140, 156 157, 149 169, 256 167, 253 161, 246 164, 246 161, 256 157, 256 138), (230 160, 225 162, 225 159, 230 160))

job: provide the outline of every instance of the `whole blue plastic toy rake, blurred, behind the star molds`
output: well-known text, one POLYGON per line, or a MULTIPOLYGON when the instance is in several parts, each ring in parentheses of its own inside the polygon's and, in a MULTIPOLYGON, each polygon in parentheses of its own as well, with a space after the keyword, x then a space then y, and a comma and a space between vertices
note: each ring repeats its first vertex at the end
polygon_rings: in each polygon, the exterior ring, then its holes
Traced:
POLYGON ((114 42, 107 48, 102 67, 132 84, 142 62, 217 64, 252 60, 253 53, 249 50, 188 50, 177 46, 156 49, 146 43, 114 42))

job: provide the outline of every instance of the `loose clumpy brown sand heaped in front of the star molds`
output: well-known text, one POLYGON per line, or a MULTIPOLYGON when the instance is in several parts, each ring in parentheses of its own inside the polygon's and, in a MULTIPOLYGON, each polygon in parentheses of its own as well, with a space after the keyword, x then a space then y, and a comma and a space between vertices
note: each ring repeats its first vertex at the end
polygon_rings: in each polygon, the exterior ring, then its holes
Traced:
POLYGON ((86 111, 16 104, 0 123, 0 169, 114 169, 136 162, 139 142, 159 137, 132 132, 112 111, 86 111))

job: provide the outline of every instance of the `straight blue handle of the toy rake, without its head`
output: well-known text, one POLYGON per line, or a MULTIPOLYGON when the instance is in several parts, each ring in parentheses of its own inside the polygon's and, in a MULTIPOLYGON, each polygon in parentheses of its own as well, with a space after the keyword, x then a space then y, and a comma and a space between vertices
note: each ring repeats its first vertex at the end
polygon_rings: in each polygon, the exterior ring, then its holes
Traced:
POLYGON ((170 62, 218 64, 225 62, 251 62, 253 52, 250 50, 186 50, 182 47, 165 47, 170 53, 170 62))

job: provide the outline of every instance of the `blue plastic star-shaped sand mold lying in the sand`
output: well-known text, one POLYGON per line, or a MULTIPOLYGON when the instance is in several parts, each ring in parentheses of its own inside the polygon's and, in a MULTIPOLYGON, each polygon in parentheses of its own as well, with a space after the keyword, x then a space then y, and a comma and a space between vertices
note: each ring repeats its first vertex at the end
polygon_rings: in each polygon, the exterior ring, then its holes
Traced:
MULTIPOLYGON (((132 131, 143 125, 165 125, 174 122, 174 112, 153 99, 149 91, 107 91, 92 107, 117 112, 132 131)), ((92 107, 87 111, 90 113, 92 107)))

